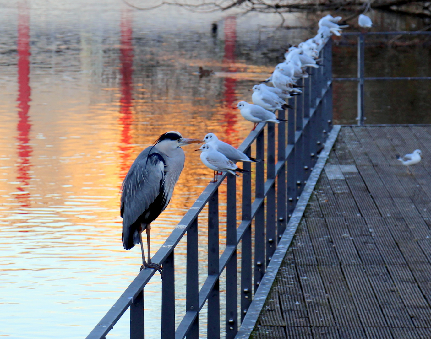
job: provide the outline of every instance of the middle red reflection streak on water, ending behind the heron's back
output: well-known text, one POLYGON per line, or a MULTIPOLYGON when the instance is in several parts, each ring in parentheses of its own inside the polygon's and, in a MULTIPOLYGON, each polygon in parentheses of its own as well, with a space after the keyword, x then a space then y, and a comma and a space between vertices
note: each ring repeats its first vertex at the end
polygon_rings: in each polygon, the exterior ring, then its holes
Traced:
POLYGON ((123 180, 131 165, 132 135, 131 126, 133 123, 133 114, 131 106, 133 105, 133 47, 132 47, 132 16, 130 10, 124 10, 120 22, 120 73, 121 73, 121 98, 120 98, 120 116, 118 119, 121 125, 121 139, 119 149, 120 155, 120 179, 123 180))

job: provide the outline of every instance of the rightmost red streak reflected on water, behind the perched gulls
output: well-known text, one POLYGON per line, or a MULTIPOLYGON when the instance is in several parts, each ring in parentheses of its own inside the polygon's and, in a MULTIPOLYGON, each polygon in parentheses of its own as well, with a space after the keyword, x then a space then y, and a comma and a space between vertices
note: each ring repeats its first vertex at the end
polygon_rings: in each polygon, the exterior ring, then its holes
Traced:
MULTIPOLYGON (((228 16, 224 22, 224 33, 225 33, 225 55, 223 56, 223 64, 225 65, 224 70, 226 72, 237 72, 237 68, 234 67, 235 63, 235 45, 237 40, 237 19, 235 16, 228 16)), ((225 135, 222 139, 231 144, 239 143, 238 131, 235 125, 238 121, 238 115, 236 112, 236 101, 237 96, 235 93, 237 80, 233 78, 225 78, 223 91, 223 102, 225 107, 225 114, 223 118, 222 126, 225 128, 225 135)))

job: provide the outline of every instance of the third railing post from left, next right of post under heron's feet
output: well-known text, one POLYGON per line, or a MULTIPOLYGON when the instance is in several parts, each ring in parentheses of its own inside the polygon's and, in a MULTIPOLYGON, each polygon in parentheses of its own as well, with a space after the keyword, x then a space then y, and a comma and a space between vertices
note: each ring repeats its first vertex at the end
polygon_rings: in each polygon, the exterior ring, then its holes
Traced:
POLYGON ((186 263, 186 311, 196 313, 196 318, 187 332, 187 339, 199 339, 199 271, 197 218, 187 230, 186 263))

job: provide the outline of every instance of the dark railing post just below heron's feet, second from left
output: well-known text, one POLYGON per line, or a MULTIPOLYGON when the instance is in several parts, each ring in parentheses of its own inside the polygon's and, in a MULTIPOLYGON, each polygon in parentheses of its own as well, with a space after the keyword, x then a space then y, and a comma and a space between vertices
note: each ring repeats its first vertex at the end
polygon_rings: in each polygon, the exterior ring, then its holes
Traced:
POLYGON ((175 337, 175 262, 174 250, 163 262, 162 339, 175 337))

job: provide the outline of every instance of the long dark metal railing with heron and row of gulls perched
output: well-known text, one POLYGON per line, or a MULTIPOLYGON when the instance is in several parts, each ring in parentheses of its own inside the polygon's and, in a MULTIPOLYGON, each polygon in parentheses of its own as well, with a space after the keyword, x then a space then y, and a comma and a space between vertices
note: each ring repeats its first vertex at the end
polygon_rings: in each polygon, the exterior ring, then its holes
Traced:
MULTIPOLYGON (((183 339, 185 336, 187 339, 199 338, 199 312, 205 302, 208 308, 208 338, 220 337, 219 279, 224 270, 226 271, 225 336, 227 339, 233 339, 236 336, 238 327, 249 310, 253 294, 259 289, 265 268, 271 261, 287 221, 293 214, 318 153, 322 150, 332 128, 331 40, 328 40, 323 47, 320 58, 323 67, 309 69, 309 78, 300 80, 304 87, 303 94, 289 99, 289 104, 294 109, 287 111, 288 122, 280 122, 277 129, 274 123, 260 123, 239 147, 242 152, 250 155, 254 144, 258 159, 264 159, 266 154, 265 162, 256 162, 253 173, 254 183, 252 172, 243 174, 242 217, 239 226, 237 227, 236 219, 236 177, 232 174, 224 174, 218 182, 208 184, 153 256, 153 262, 163 265, 162 339, 183 339), (227 177, 226 248, 219 256, 218 188, 225 177, 227 177), (252 186, 255 191, 254 199, 252 186), (201 223, 203 227, 208 228, 208 275, 199 290, 198 227, 200 223, 198 223, 198 217, 206 204, 208 204, 208 221, 201 221, 201 223), (186 233, 186 312, 175 329, 174 249, 186 233), (253 233, 254 257, 252 256, 253 233), (241 259, 238 262, 237 246, 240 243, 241 259), (241 275, 240 295, 237 295, 238 271, 241 275), (238 302, 240 316, 237 311, 238 302)), ((278 111, 278 117, 284 119, 285 112, 278 111)), ((249 162, 244 162, 243 166, 244 169, 251 170, 249 162)), ((143 289, 153 274, 152 269, 142 270, 94 327, 87 339, 105 338, 128 308, 130 308, 130 338, 143 339, 143 289)))

